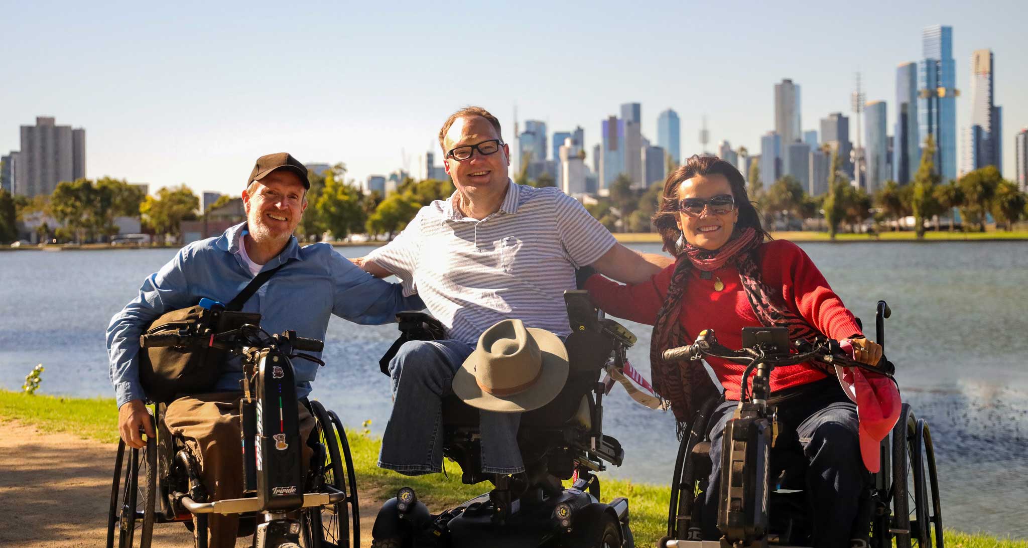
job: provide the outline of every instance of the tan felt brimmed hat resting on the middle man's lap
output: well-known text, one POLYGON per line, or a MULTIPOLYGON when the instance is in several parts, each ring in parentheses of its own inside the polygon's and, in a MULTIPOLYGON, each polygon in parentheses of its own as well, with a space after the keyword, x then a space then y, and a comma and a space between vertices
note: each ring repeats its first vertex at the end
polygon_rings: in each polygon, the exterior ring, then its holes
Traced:
POLYGON ((478 337, 478 346, 453 375, 453 393, 479 409, 514 413, 537 409, 567 380, 560 337, 521 320, 503 320, 478 337))

